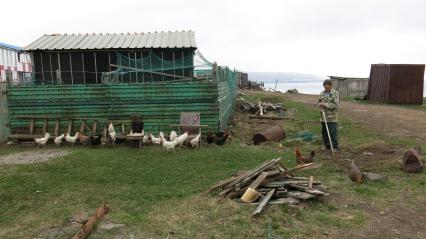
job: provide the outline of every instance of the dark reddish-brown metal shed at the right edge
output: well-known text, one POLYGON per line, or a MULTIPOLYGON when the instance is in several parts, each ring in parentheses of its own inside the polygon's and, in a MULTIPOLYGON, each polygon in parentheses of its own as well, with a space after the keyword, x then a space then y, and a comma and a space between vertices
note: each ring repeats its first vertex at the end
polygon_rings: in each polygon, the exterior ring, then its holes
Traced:
POLYGON ((425 65, 372 64, 367 99, 390 104, 422 104, 425 65))

